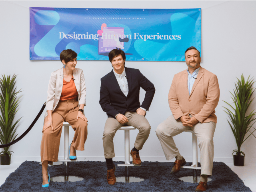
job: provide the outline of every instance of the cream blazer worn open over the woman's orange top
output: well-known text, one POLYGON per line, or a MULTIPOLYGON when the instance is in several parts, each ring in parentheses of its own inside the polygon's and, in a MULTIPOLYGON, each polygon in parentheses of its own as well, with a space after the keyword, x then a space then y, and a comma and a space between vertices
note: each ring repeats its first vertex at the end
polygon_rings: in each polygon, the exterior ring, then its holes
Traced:
MULTIPOLYGON (((47 101, 46 101, 46 113, 44 115, 44 118, 48 115, 47 111, 52 110, 56 108, 60 101, 60 96, 62 93, 62 87, 63 87, 63 68, 58 69, 54 72, 52 72, 48 90, 47 90, 47 101)), ((76 90, 78 92, 78 106, 80 104, 84 104, 85 106, 85 97, 86 97, 86 86, 85 86, 85 80, 84 80, 84 73, 82 69, 76 68, 73 71, 74 76, 74 82, 76 85, 76 90)))

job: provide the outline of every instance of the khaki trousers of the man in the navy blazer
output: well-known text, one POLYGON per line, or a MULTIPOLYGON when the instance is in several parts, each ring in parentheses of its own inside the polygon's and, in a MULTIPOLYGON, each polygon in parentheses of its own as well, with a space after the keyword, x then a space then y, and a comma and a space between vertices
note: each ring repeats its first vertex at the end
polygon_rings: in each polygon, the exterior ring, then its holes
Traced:
POLYGON ((125 116, 128 118, 128 122, 125 124, 119 123, 115 118, 108 118, 106 120, 104 132, 103 132, 103 148, 105 158, 113 158, 115 156, 114 152, 114 136, 116 131, 124 125, 133 126, 139 130, 136 137, 134 146, 136 149, 141 150, 144 143, 148 139, 150 133, 150 125, 146 117, 139 115, 135 112, 126 112, 125 116))

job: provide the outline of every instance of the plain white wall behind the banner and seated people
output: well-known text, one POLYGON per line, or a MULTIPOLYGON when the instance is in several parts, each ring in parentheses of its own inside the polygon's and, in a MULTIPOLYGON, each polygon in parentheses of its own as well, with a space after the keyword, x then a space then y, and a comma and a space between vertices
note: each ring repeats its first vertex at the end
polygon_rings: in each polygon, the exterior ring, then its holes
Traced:
MULTIPOLYGON (((18 74, 16 86, 22 88, 22 99, 17 118, 23 116, 17 133, 22 134, 34 120, 46 101, 48 81, 52 71, 62 67, 59 61, 29 60, 29 7, 64 7, 64 8, 202 8, 202 63, 201 66, 217 75, 220 85, 220 101, 216 108, 218 123, 214 134, 214 161, 232 162, 232 150, 236 143, 227 122, 227 115, 222 100, 230 101, 236 77, 243 73, 256 77, 256 2, 255 1, 162 1, 162 0, 127 0, 127 1, 88 1, 88 0, 6 0, 0 1, 0 74, 18 74)), ((174 74, 185 70, 185 62, 126 62, 127 67, 139 68, 156 88, 156 93, 147 112, 151 132, 143 150, 142 161, 165 161, 160 142, 155 134, 160 122, 170 116, 168 91, 174 74)), ((102 134, 106 113, 99 104, 100 78, 112 70, 108 61, 78 61, 86 80, 87 97, 85 114, 88 118, 88 139, 85 151, 77 152, 78 160, 104 160, 102 134)), ((256 84, 254 85, 256 86, 256 84)), ((140 101, 144 98, 141 90, 140 101)), ((256 96, 256 92, 254 92, 256 96)), ((256 100, 252 103, 255 109, 256 100)), ((14 151, 12 161, 40 161, 40 142, 42 137, 43 115, 34 128, 17 144, 10 147, 14 151)), ((64 132, 64 131, 63 131, 64 132)), ((63 156, 63 132, 59 156, 63 156)), ((70 131, 72 140, 73 130, 70 131)), ((130 133, 132 147, 138 130, 130 133)), ((192 158, 192 136, 182 133, 174 137, 182 156, 187 161, 192 158)), ((114 137, 116 158, 123 160, 124 132, 118 131, 114 137)), ((250 137, 242 145, 246 162, 256 161, 256 139, 250 137)))

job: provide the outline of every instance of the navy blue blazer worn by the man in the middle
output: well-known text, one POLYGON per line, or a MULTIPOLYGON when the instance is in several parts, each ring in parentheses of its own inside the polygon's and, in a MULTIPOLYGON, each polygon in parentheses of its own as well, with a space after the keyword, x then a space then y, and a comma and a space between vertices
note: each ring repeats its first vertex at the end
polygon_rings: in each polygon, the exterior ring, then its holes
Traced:
POLYGON ((115 118, 116 114, 136 112, 140 107, 148 110, 155 94, 155 87, 138 69, 125 67, 129 92, 125 96, 111 70, 102 77, 100 86, 100 106, 108 117, 115 118), (144 101, 140 105, 140 87, 146 91, 144 101))

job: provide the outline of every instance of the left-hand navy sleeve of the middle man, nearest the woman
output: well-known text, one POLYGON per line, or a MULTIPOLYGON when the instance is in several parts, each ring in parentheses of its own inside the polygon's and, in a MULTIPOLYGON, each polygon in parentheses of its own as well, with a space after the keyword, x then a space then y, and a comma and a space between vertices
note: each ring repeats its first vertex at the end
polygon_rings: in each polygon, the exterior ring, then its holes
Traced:
POLYGON ((119 114, 119 112, 110 105, 110 94, 102 80, 100 85, 100 106, 104 112, 113 117, 116 117, 116 115, 119 114))

